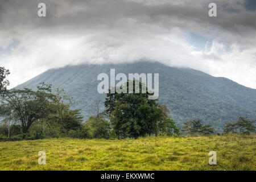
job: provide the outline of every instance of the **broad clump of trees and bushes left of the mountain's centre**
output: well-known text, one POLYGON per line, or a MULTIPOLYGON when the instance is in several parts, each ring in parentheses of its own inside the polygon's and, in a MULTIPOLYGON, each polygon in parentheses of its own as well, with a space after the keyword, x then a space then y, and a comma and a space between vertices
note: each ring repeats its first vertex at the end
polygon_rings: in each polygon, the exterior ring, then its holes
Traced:
POLYGON ((82 126, 80 110, 70 109, 74 103, 64 90, 57 89, 57 94, 52 94, 51 85, 44 83, 36 91, 9 90, 0 105, 0 117, 3 118, 0 131, 7 138, 21 134, 20 131, 14 132, 13 128, 22 129, 23 139, 90 137, 82 126))

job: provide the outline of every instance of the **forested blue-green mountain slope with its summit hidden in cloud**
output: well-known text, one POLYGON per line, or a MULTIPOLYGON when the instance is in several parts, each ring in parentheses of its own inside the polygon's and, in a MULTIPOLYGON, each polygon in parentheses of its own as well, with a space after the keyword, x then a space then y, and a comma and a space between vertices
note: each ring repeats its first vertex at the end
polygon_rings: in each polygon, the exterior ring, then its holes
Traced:
MULTIPOLYGON (((99 73, 110 68, 117 73, 159 73, 159 102, 170 109, 179 127, 190 119, 210 123, 222 131, 226 122, 237 121, 237 116, 256 119, 256 90, 246 88, 227 78, 213 77, 206 73, 185 68, 172 68, 160 63, 141 61, 132 64, 103 64, 67 66, 48 71, 18 85, 16 88, 36 89, 40 82, 63 88, 79 103, 76 109, 88 118, 93 113, 93 103, 105 94, 97 92, 99 73)), ((102 110, 103 110, 102 105, 102 110)))

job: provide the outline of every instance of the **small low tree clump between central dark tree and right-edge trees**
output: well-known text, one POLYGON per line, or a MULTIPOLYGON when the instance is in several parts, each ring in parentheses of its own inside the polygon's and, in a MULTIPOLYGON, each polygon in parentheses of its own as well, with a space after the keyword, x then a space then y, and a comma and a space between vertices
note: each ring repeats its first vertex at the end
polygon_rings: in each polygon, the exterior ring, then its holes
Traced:
POLYGON ((200 119, 185 122, 181 131, 191 136, 204 136, 214 133, 212 126, 209 124, 203 125, 200 119))

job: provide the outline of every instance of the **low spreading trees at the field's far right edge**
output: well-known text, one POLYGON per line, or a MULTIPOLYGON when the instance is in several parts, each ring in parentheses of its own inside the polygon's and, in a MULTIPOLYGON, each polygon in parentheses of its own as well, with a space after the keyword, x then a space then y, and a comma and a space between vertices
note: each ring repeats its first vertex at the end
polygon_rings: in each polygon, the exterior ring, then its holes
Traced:
POLYGON ((255 121, 246 117, 239 117, 236 123, 226 123, 224 133, 240 133, 249 135, 255 133, 255 121))

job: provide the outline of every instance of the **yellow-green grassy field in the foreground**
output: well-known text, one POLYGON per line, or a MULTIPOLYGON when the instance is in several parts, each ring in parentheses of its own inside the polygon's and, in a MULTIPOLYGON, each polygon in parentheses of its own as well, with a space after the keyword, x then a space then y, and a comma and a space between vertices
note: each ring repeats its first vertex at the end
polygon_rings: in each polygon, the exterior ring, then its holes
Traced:
POLYGON ((255 170, 256 135, 0 142, 1 170, 255 170), (46 165, 38 164, 46 151, 46 165), (217 152, 217 165, 208 152, 217 152))

